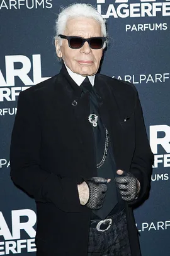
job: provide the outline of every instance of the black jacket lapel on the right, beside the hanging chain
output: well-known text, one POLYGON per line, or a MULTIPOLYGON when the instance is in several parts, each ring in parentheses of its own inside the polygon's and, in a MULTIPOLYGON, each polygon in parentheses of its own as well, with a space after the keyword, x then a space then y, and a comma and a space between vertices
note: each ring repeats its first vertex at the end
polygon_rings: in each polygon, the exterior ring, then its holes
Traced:
POLYGON ((122 102, 117 101, 116 95, 103 77, 98 75, 96 78, 96 90, 103 101, 103 104, 99 106, 99 113, 108 128, 110 142, 115 156, 116 169, 125 169, 127 164, 123 159, 125 159, 124 156, 126 154, 126 135, 122 128, 123 118, 119 107, 119 104, 122 102))

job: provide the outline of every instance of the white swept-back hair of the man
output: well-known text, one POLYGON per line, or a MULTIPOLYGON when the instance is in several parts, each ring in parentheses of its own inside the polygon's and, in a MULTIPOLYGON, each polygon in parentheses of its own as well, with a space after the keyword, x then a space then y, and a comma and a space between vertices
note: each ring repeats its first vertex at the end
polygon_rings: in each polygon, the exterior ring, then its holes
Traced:
MULTIPOLYGON (((107 37, 106 32, 106 20, 103 19, 100 13, 91 5, 91 4, 71 4, 66 8, 62 8, 62 11, 59 13, 57 20, 55 21, 55 39, 59 40, 60 46, 62 45, 62 39, 58 36, 64 34, 67 21, 71 18, 86 17, 94 18, 101 25, 101 33, 103 37, 107 37)), ((103 46, 103 49, 106 47, 108 40, 103 46)))

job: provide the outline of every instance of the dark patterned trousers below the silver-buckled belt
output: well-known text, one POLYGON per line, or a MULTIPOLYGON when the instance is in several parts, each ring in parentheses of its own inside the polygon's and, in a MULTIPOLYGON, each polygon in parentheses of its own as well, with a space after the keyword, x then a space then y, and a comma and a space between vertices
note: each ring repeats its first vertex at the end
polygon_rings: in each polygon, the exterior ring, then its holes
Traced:
POLYGON ((110 218, 113 222, 103 232, 94 228, 93 222, 89 231, 88 256, 131 256, 125 210, 110 218))

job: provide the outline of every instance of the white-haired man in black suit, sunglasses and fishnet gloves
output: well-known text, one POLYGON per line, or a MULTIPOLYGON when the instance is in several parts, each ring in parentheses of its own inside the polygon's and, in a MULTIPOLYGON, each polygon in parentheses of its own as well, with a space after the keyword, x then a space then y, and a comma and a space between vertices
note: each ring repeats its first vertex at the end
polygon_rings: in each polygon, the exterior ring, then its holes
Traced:
POLYGON ((137 90, 97 74, 105 20, 73 4, 56 22, 60 73, 20 93, 11 177, 37 202, 38 256, 139 256, 132 207, 153 155, 137 90))

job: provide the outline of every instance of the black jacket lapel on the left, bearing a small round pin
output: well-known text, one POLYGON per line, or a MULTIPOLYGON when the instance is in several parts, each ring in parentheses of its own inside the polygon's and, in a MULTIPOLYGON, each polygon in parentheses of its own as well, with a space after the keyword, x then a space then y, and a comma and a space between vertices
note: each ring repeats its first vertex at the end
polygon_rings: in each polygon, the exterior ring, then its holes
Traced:
POLYGON ((82 95, 82 88, 72 80, 65 67, 60 71, 56 83, 54 109, 56 109, 56 113, 60 109, 63 116, 65 115, 69 119, 68 122, 65 122, 67 129, 72 127, 74 130, 72 136, 76 142, 78 141, 79 157, 81 156, 82 161, 81 171, 84 172, 84 177, 96 176, 93 128, 88 121, 89 92, 82 95))

